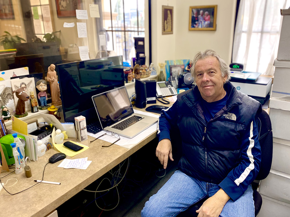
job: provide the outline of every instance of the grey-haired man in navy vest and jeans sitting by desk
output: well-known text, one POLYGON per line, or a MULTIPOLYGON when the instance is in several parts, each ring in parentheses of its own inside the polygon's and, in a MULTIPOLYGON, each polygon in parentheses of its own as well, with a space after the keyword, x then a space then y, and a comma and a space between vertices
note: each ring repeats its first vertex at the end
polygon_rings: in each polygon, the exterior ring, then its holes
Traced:
POLYGON ((213 50, 195 56, 191 73, 196 86, 177 96, 157 127, 156 156, 164 169, 174 154, 169 132, 180 130, 178 170, 145 203, 141 216, 176 216, 205 197, 198 217, 254 216, 251 182, 261 159, 261 105, 233 87, 229 67, 213 50))

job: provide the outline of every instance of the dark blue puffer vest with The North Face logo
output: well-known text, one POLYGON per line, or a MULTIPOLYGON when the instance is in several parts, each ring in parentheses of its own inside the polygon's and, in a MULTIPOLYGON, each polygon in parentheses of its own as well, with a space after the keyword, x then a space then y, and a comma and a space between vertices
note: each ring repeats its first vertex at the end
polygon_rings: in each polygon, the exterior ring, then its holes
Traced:
POLYGON ((226 106, 208 123, 197 87, 177 96, 183 152, 178 167, 191 177, 215 184, 240 163, 241 135, 261 112, 258 101, 237 91, 230 82, 224 89, 228 94, 226 106))

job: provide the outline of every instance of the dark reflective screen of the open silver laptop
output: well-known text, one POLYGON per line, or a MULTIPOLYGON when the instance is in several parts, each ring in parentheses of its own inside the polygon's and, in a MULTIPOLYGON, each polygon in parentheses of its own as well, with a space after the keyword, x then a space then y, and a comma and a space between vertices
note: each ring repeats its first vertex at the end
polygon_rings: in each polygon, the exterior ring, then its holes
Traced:
POLYGON ((133 114, 126 87, 119 87, 92 97, 103 128, 133 114))

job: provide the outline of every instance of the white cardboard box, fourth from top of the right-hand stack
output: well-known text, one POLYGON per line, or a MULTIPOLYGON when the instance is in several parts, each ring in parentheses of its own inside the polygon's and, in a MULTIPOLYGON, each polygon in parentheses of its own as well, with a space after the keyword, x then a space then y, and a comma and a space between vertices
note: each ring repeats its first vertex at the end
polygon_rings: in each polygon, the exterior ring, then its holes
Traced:
POLYGON ((290 174, 290 141, 273 138, 271 169, 290 174))

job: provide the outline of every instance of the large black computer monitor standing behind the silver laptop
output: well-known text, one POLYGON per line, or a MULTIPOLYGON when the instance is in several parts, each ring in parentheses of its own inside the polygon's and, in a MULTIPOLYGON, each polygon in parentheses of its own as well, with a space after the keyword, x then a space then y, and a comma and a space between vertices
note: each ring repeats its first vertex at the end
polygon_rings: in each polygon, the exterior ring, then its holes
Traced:
POLYGON ((66 122, 79 115, 88 124, 98 120, 92 96, 124 86, 122 56, 59 64, 57 72, 66 122))

